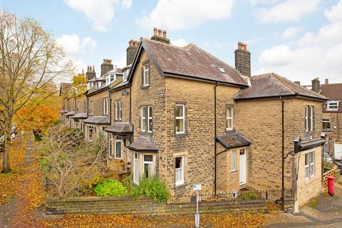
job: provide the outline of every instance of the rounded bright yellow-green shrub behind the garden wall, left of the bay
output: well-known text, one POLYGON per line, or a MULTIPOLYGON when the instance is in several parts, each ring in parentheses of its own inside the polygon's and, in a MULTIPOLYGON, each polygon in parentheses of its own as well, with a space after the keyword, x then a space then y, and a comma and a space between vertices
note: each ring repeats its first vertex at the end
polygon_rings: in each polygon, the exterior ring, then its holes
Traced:
POLYGON ((94 191, 99 197, 119 197, 127 194, 127 189, 118 180, 107 179, 96 185, 94 191))

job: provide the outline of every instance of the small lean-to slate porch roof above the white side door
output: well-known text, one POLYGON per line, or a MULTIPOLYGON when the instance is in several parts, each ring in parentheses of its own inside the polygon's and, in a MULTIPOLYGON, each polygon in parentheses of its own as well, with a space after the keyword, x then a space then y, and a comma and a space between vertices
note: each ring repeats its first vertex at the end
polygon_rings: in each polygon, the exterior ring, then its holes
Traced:
POLYGON ((244 135, 237 132, 229 132, 225 135, 217 135, 216 140, 227 149, 251 145, 251 142, 244 135))

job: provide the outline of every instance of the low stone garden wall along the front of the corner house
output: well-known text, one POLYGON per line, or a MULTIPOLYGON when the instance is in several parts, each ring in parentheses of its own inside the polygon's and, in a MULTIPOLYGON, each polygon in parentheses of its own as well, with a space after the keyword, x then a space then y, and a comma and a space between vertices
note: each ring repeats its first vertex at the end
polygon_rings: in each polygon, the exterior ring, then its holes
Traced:
MULTIPOLYGON (((196 209, 195 203, 165 204, 145 197, 47 197, 45 204, 46 214, 193 214, 196 209)), ((199 204, 199 212, 268 212, 268 204, 266 199, 202 202, 199 204)), ((287 200, 285 206, 286 211, 291 210, 293 199, 287 200)))

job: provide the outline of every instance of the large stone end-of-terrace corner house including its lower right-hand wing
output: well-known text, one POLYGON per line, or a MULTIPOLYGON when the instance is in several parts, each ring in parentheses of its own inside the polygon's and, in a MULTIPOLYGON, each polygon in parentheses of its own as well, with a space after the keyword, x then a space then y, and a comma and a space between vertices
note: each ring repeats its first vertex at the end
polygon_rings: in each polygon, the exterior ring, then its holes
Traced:
POLYGON ((159 175, 173 195, 194 184, 202 192, 284 185, 299 207, 318 195, 326 98, 274 73, 251 77, 244 43, 237 71, 166 35, 155 28, 141 38, 127 80, 110 88, 110 162, 123 160, 137 184, 159 175))

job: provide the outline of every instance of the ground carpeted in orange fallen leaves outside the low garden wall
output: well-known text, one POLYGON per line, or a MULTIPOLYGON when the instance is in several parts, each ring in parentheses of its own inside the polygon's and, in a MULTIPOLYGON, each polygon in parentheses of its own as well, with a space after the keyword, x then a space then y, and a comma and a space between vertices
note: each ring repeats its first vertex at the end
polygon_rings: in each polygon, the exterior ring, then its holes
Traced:
MULTIPOLYGON (((46 192, 41 181, 38 155, 25 149, 25 142, 14 142, 11 150, 13 172, 0 175, 0 227, 195 227, 194 215, 46 216, 42 211, 46 192)), ((201 214, 200 222, 201 227, 260 227, 268 219, 269 216, 255 213, 201 214)))

